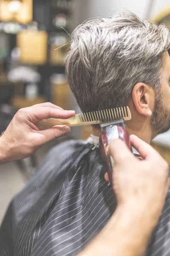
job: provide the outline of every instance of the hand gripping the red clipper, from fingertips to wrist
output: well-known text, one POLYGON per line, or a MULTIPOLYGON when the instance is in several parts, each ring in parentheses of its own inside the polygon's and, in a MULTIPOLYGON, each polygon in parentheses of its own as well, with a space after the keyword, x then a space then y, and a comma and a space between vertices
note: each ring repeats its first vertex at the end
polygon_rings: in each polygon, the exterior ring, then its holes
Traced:
POLYGON ((114 159, 113 189, 118 206, 147 211, 157 221, 170 185, 168 164, 135 135, 130 136, 130 141, 143 160, 135 157, 122 140, 113 140, 108 147, 114 159))

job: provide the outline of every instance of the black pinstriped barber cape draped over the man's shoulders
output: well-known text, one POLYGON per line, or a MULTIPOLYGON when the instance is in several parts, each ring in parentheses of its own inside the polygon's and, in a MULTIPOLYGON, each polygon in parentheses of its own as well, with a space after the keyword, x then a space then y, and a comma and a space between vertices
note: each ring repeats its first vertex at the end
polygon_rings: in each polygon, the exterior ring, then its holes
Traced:
MULTIPOLYGON (((77 255, 116 208, 105 172, 98 145, 74 140, 53 148, 8 207, 0 256, 77 255)), ((170 255, 170 192, 147 255, 170 255)))

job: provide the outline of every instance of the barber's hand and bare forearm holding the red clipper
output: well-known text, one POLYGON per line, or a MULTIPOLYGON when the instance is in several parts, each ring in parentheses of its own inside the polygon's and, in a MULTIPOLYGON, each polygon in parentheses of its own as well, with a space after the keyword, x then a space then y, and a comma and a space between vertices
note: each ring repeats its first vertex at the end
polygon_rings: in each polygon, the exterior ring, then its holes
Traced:
MULTIPOLYGON (((103 230, 79 256, 144 255, 169 188, 167 162, 150 145, 131 135, 139 160, 122 140, 113 140, 113 189, 117 207, 103 230)), ((105 175, 108 181, 108 174, 105 175)))

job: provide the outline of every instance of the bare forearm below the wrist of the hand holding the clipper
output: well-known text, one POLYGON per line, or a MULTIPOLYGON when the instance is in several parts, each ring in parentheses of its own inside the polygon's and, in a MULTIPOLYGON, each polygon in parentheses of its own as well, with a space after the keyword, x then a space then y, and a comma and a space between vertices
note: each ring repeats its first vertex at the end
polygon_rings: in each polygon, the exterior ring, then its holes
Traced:
POLYGON ((79 256, 142 256, 157 218, 139 208, 117 207, 104 229, 79 256))

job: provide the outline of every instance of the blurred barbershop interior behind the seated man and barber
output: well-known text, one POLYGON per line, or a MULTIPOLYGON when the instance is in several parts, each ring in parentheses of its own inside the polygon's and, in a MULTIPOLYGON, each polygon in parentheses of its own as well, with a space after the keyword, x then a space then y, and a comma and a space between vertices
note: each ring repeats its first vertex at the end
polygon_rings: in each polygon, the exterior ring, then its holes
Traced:
MULTIPOLYGON (((0 0, 0 132, 18 109, 52 102, 80 112, 65 77, 70 33, 91 17, 128 9, 170 28, 170 0, 0 0), (61 47, 62 46, 62 47, 61 47)), ((62 139, 86 139, 91 127, 62 139)), ((0 166, 0 222, 11 197, 25 186, 56 140, 26 160, 0 166)), ((170 163, 170 132, 153 146, 170 163)))

